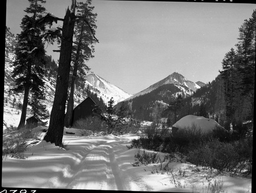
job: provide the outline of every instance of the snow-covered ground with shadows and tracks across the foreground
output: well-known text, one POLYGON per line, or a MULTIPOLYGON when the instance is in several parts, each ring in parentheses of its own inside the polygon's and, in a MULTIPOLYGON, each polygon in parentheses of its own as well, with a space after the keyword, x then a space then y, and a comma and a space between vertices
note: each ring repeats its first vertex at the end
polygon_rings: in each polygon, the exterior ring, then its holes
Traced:
MULTIPOLYGON (((79 131, 63 132, 68 150, 38 140, 25 152, 26 159, 4 158, 2 187, 208 192, 209 182, 212 187, 223 182, 225 192, 251 192, 250 178, 216 176, 190 163, 172 162, 170 171, 162 173, 160 163, 134 167, 138 149, 126 146, 136 134, 82 136, 79 131)), ((38 133, 41 139, 44 135, 38 133)))

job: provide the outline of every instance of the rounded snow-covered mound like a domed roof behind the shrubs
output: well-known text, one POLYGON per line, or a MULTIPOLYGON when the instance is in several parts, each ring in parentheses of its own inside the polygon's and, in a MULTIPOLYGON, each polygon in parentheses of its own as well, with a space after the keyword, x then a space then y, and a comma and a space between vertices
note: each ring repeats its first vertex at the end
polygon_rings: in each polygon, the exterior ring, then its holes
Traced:
POLYGON ((214 119, 205 118, 203 116, 186 115, 173 125, 173 132, 178 129, 201 129, 203 133, 208 133, 216 127, 221 127, 214 119))

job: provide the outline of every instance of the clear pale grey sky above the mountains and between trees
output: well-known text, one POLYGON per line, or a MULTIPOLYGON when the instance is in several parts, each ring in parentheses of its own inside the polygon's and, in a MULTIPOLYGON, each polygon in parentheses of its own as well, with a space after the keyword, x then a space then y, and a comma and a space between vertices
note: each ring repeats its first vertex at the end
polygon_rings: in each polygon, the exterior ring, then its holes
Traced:
MULTIPOLYGON (((79 0, 77 0, 78 2, 79 0)), ((86 0, 80 0, 86 2, 86 0)), ((47 0, 47 12, 63 18, 71 0, 47 0)), ((97 16, 93 73, 135 94, 174 71, 188 80, 214 80, 221 62, 238 42, 239 27, 255 4, 100 1, 97 16)), ((28 0, 7 0, 6 26, 20 33, 28 0)), ((62 22, 58 22, 62 25, 62 22)), ((49 45, 47 54, 59 54, 49 45)))

